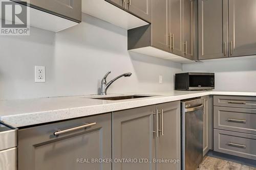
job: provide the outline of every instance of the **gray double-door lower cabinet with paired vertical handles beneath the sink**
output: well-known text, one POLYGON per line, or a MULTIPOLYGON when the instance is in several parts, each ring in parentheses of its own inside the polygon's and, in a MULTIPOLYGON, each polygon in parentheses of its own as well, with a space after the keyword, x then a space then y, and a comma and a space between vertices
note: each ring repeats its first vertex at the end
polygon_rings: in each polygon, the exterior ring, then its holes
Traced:
POLYGON ((180 101, 117 111, 112 118, 113 160, 150 161, 113 163, 113 170, 180 169, 179 162, 156 163, 180 160, 180 101))

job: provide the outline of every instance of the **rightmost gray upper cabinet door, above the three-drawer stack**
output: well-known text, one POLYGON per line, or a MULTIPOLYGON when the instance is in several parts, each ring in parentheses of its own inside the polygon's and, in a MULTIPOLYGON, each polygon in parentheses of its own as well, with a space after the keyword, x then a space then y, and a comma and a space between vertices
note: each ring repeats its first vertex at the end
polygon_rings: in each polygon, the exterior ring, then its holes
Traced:
POLYGON ((229 0, 229 56, 256 55, 256 1, 229 0))

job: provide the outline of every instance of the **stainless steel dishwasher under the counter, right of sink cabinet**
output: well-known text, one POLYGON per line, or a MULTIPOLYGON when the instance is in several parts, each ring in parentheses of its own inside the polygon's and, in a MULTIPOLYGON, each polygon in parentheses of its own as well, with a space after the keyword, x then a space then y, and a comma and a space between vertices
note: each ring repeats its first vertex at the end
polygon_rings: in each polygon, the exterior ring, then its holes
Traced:
POLYGON ((203 160, 204 99, 181 101, 182 169, 195 170, 203 160))

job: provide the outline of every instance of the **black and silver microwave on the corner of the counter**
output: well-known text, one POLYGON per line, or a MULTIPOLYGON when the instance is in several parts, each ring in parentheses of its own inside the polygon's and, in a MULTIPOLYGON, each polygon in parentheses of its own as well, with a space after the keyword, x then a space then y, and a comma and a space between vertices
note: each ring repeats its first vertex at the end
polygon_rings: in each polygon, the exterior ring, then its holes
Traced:
POLYGON ((185 72, 175 74, 176 90, 210 90, 214 89, 215 77, 210 72, 185 72))

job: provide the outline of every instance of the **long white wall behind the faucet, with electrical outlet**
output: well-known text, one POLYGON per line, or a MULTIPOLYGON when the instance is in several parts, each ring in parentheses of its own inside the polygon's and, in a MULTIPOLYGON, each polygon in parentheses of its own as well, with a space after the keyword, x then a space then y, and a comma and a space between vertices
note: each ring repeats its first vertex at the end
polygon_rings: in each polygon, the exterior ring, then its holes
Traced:
POLYGON ((174 90, 182 65, 127 51, 127 31, 83 14, 82 23, 52 33, 31 28, 30 36, 0 37, 0 100, 96 94, 124 72, 109 93, 174 90), (34 82, 34 66, 46 66, 46 83, 34 82), (159 84, 159 75, 163 83, 159 84))

